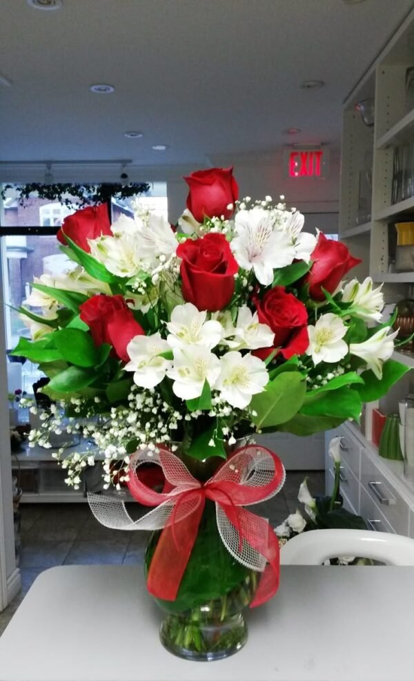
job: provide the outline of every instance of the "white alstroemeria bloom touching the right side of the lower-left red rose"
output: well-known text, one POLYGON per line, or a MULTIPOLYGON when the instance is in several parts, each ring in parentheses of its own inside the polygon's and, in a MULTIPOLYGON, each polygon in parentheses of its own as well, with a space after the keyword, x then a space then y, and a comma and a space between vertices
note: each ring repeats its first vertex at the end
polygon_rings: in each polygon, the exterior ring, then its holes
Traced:
POLYGON ((152 336, 135 336, 126 346, 130 362, 125 367, 128 372, 134 372, 134 383, 139 387, 154 387, 161 383, 172 361, 161 357, 161 353, 170 350, 161 334, 152 336))

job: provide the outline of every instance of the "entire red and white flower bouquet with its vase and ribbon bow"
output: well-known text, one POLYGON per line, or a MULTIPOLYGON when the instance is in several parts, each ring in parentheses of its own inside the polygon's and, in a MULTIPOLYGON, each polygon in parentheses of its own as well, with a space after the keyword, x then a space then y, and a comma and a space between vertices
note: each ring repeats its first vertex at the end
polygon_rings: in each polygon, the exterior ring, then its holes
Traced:
POLYGON ((112 225, 105 205, 64 220, 73 267, 34 282, 32 340, 14 354, 50 378, 31 443, 66 428, 95 444, 55 453, 66 482, 79 489, 102 460, 90 506, 109 527, 152 530, 162 642, 211 660, 246 642, 243 608, 279 583, 278 539, 244 507, 275 495, 284 468, 254 434, 358 421, 407 368, 391 359, 380 289, 342 282, 359 262, 344 244, 302 231, 283 197, 239 200, 232 169, 185 179, 175 227, 139 206, 112 225), (124 486, 155 508, 133 520, 124 486))

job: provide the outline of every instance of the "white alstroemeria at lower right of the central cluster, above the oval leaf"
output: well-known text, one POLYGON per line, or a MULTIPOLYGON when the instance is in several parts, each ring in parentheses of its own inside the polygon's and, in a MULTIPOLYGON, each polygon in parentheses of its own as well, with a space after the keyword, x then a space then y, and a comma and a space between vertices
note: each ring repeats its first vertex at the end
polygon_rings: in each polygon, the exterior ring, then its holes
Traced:
POLYGON ((216 388, 232 407, 244 409, 253 395, 263 392, 269 380, 266 365, 258 357, 228 352, 220 360, 216 388))

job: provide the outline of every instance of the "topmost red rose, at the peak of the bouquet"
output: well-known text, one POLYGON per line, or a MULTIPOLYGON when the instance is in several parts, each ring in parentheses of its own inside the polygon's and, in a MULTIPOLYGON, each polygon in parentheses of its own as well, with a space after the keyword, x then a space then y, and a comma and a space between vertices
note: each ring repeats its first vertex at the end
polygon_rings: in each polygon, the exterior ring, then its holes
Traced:
POLYGON ((239 198, 239 187, 233 178, 233 168, 209 168, 191 173, 184 178, 190 187, 187 208, 197 220, 204 216, 228 220, 234 212, 235 201, 239 198), (231 209, 228 205, 233 204, 231 209))

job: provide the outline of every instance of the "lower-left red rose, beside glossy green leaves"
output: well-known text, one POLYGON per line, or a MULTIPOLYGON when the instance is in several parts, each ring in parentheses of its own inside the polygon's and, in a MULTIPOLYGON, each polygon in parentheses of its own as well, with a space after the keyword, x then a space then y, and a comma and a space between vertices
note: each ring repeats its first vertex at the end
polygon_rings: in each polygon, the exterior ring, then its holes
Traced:
POLYGON ((90 328, 95 345, 112 345, 112 354, 123 362, 129 361, 126 346, 134 336, 144 336, 144 329, 135 320, 123 296, 92 296, 79 308, 81 320, 90 328))

